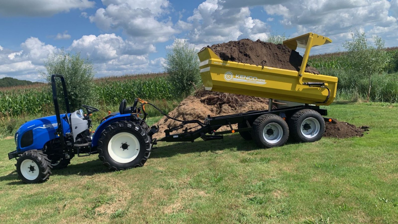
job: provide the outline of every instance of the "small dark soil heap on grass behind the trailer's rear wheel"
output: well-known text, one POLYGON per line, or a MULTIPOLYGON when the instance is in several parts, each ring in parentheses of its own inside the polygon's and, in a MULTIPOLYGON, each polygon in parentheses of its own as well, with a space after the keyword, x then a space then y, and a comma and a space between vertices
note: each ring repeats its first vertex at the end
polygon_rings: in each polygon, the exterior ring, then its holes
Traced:
POLYGON ((347 122, 340 122, 336 119, 332 119, 332 122, 326 122, 324 137, 332 138, 351 138, 354 136, 363 136, 364 131, 369 131, 369 127, 362 126, 358 128, 353 124, 347 122))

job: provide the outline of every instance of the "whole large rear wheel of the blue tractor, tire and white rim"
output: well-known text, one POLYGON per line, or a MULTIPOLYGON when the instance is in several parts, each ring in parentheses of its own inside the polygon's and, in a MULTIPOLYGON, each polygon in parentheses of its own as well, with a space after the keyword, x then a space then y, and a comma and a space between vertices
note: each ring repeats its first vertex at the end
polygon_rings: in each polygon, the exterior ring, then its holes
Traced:
POLYGON ((149 157, 150 138, 145 128, 133 121, 109 125, 98 140, 98 157, 111 170, 142 167, 149 157))

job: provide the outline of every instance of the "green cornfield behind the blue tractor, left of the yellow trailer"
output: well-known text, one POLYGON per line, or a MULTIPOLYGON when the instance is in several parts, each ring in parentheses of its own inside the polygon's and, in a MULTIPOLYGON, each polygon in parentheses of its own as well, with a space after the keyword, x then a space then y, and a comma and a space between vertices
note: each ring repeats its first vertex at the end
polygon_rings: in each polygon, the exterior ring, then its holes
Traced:
MULTIPOLYGON (((98 104, 93 106, 99 107, 119 105, 123 99, 133 103, 137 97, 151 100, 178 98, 173 95, 164 73, 100 78, 96 80, 95 92, 98 104)), ((53 113, 51 87, 47 84, 0 88, 0 118, 53 113)))

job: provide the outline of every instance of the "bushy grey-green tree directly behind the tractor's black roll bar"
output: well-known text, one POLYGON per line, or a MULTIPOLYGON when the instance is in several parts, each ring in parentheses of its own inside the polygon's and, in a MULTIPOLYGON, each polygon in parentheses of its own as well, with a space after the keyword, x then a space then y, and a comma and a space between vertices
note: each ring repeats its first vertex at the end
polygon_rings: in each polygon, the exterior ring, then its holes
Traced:
MULTIPOLYGON (((71 110, 81 108, 82 104, 91 104, 96 96, 94 92, 94 65, 89 58, 80 57, 80 52, 71 53, 61 49, 59 53, 49 55, 44 66, 47 73, 39 71, 41 76, 51 84, 51 75, 60 74, 65 78, 68 100, 71 110)), ((63 96, 62 86, 57 81, 57 96, 63 96)), ((60 105, 64 106, 63 100, 60 105)))

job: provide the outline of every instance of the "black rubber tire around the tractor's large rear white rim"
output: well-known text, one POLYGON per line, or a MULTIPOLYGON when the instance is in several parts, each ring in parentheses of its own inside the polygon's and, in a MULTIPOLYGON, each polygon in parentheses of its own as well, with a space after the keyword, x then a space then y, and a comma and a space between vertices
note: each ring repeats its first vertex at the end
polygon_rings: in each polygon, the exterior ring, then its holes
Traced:
MULTIPOLYGON (((103 152, 104 152, 104 150, 107 150, 107 149, 106 148, 103 149, 103 147, 106 147, 107 145, 104 145, 103 142, 105 141, 105 138, 107 138, 107 135, 110 132, 112 132, 113 130, 115 130, 117 128, 124 128, 124 127, 134 128, 134 130, 139 132, 140 135, 144 138, 144 142, 145 142, 144 157, 134 167, 142 167, 145 164, 146 160, 148 160, 149 155, 150 155, 150 150, 151 150, 150 138, 149 138, 148 133, 145 128, 142 128, 139 124, 137 124, 136 122, 133 122, 133 121, 114 122, 114 123, 110 124, 109 126, 107 126, 103 130, 103 132, 101 133, 101 138, 98 140, 98 147, 97 147, 98 157, 102 161, 102 164, 113 171, 124 170, 127 168, 119 168, 119 167, 111 166, 111 164, 108 161, 106 161, 106 159, 103 155, 103 152)), ((134 168, 134 167, 132 167, 132 168, 134 168)))

